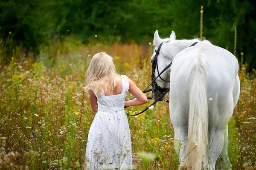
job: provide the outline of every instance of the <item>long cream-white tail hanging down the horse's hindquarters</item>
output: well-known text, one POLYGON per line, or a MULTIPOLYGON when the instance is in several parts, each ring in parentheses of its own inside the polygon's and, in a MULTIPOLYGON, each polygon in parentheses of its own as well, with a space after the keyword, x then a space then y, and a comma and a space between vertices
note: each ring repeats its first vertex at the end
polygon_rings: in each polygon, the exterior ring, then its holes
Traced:
POLYGON ((200 170, 207 164, 208 146, 208 68, 201 54, 195 58, 187 77, 189 97, 189 129, 186 158, 189 167, 200 170))

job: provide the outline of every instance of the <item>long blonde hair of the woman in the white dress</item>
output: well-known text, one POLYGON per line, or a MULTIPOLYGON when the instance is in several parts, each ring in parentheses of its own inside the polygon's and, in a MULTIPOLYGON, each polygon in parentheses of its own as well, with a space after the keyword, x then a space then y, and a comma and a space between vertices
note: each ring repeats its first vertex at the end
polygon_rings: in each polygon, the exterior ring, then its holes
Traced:
POLYGON ((101 96, 103 91, 109 94, 116 89, 116 77, 119 75, 116 74, 113 58, 105 52, 97 53, 86 71, 85 90, 94 91, 96 96, 101 96))

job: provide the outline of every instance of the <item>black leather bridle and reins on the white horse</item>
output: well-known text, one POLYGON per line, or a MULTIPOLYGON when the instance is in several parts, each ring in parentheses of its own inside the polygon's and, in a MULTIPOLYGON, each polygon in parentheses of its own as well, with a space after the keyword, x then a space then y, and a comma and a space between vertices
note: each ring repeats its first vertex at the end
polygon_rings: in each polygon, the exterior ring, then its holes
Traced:
MULTIPOLYGON (((198 42, 194 42, 192 45, 190 45, 190 47, 194 46, 195 44, 197 44, 198 42)), ((172 65, 172 62, 167 65, 160 73, 159 73, 159 69, 158 69, 158 65, 157 65, 157 57, 158 57, 158 54, 160 53, 160 49, 163 45, 163 42, 159 45, 158 49, 155 50, 156 52, 156 55, 154 56, 154 59, 151 61, 152 62, 152 75, 151 75, 151 89, 148 89, 150 85, 148 85, 148 87, 142 91, 143 93, 147 93, 149 91, 152 91, 152 95, 153 94, 160 94, 161 96, 155 100, 151 105, 149 105, 147 108, 145 108, 143 111, 141 111, 140 113, 136 113, 136 114, 128 114, 130 116, 137 116, 143 112, 145 112, 146 110, 148 110, 148 108, 150 108, 151 106, 155 105, 158 101, 160 101, 161 99, 163 99, 163 97, 166 95, 166 93, 170 90, 170 85, 168 86, 168 88, 161 88, 160 86, 157 85, 156 83, 156 79, 159 77, 161 80, 165 81, 165 82, 170 82, 170 81, 167 81, 167 80, 164 80, 160 75, 163 74, 164 71, 166 71, 169 67, 171 67, 172 65), (158 73, 158 76, 156 78, 155 77, 155 70, 157 70, 157 73, 158 73), (147 90, 148 89, 148 90, 147 90)), ((134 97, 135 98, 135 97, 134 97)), ((132 99, 134 99, 132 98, 132 99)), ((126 100, 132 100, 132 99, 126 99, 126 100)), ((147 99, 153 99, 153 97, 147 97, 147 99)), ((169 103, 169 100, 165 100, 166 102, 169 103)))

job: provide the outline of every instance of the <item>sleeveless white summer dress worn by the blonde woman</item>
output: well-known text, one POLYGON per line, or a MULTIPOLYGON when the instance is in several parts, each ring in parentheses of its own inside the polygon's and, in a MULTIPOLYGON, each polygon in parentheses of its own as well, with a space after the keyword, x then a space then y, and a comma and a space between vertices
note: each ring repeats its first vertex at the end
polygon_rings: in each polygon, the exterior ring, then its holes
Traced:
POLYGON ((131 135, 124 111, 128 77, 122 75, 121 94, 97 96, 98 112, 89 130, 86 170, 132 169, 131 135))

